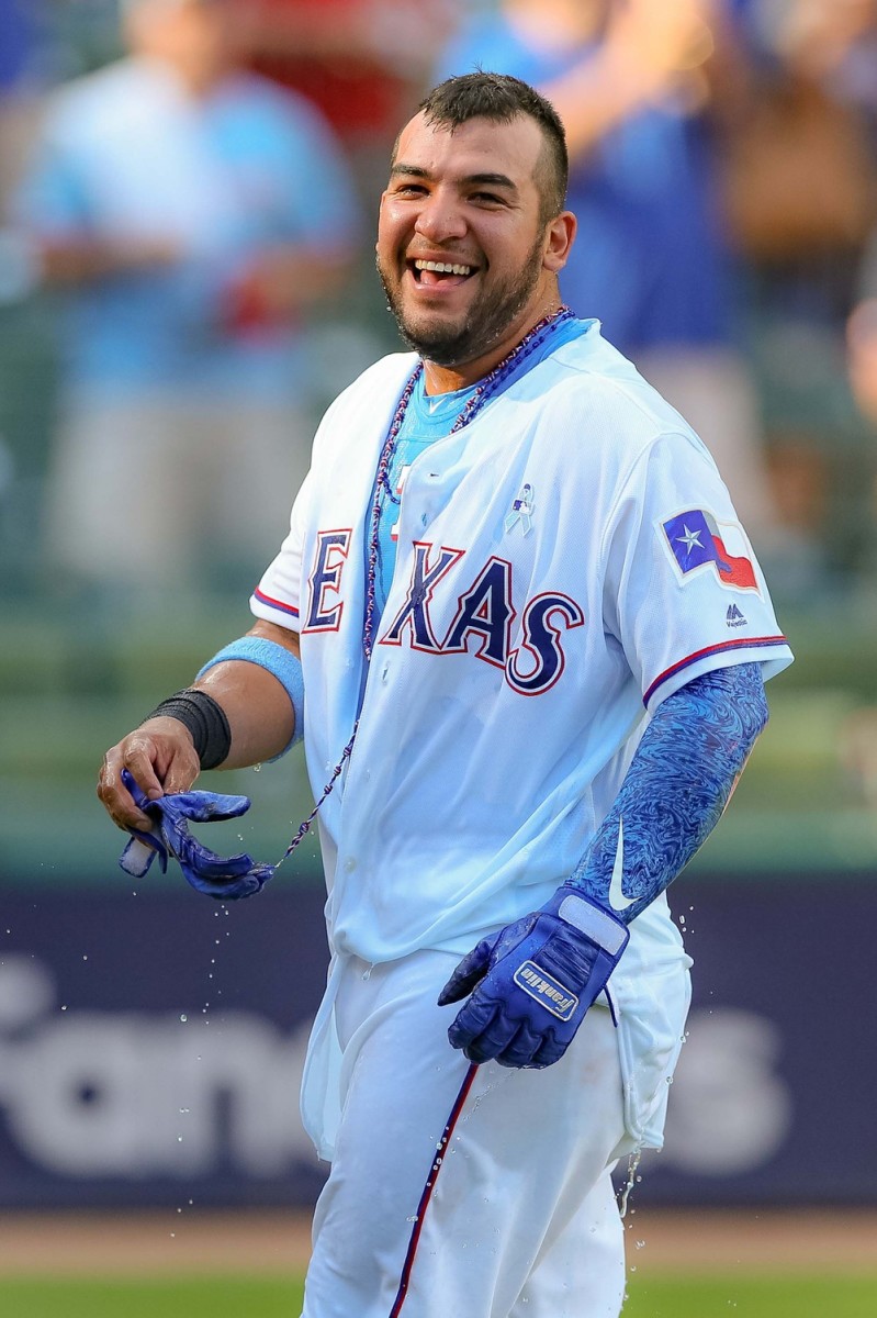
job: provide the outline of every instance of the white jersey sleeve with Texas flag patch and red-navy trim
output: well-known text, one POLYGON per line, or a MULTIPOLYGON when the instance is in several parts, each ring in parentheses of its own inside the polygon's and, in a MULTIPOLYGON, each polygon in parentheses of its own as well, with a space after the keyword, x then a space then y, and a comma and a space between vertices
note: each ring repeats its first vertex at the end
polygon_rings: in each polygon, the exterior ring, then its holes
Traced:
POLYGON ((604 539, 603 621, 654 709, 693 677, 793 655, 715 463, 694 435, 662 435, 637 460, 604 539))

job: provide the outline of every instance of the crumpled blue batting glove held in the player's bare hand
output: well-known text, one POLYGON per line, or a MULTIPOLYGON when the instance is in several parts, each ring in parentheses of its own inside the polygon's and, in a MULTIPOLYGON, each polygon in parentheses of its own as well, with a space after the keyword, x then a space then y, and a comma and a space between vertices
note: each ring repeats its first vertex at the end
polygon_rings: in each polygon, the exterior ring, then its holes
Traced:
POLYGON ((153 829, 130 829, 132 840, 119 858, 126 874, 142 878, 158 857, 162 873, 173 855, 188 883, 220 902, 233 902, 261 892, 274 875, 273 865, 255 865, 252 855, 224 858, 211 851, 188 832, 188 822, 205 824, 211 820, 230 820, 250 808, 248 796, 221 796, 219 792, 179 792, 150 801, 126 768, 122 783, 144 815, 154 821, 153 829))

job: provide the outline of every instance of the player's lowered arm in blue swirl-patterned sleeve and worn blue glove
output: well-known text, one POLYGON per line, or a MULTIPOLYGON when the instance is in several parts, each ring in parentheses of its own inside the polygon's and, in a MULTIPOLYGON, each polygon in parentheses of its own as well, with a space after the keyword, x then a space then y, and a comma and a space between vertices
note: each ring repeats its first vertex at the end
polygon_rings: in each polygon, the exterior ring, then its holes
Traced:
POLYGON ((768 721, 761 670, 703 673, 658 706, 612 809, 549 900, 482 938, 438 1004, 460 1002, 448 1039, 473 1062, 550 1066, 618 965, 627 925, 712 832, 768 721))

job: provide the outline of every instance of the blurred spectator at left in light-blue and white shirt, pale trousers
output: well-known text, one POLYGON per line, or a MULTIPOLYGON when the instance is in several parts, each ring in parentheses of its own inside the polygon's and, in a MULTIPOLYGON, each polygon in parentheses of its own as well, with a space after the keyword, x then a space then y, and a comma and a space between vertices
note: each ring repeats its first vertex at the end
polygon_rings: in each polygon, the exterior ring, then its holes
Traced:
POLYGON ((302 98, 236 66, 233 0, 126 0, 129 55, 53 99, 20 196, 63 294, 55 572, 140 590, 265 560, 308 460, 302 316, 357 206, 302 98))

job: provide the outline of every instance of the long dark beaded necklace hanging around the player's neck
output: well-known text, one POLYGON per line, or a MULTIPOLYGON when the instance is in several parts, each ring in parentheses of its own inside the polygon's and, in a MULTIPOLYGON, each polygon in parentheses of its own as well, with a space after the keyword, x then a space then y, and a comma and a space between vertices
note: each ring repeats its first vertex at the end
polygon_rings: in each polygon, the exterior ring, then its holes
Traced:
MULTIPOLYGON (((560 306, 556 311, 550 311, 546 316, 543 316, 533 328, 524 335, 519 344, 503 357, 503 360, 494 366, 489 374, 478 384, 474 393, 466 399, 460 415, 454 420, 453 426, 448 431, 449 435, 456 435, 458 431, 467 426, 478 413, 485 407, 492 395, 502 387, 506 380, 511 376, 514 370, 518 369, 521 361, 529 357, 537 348, 543 345, 549 333, 552 333, 558 326, 566 324, 573 319, 573 312, 566 306, 560 306)), ((369 534, 369 571, 366 576, 366 608, 362 622, 362 652, 365 655, 366 667, 371 663, 371 652, 374 650, 374 614, 375 614, 375 583, 378 575, 378 532, 381 527, 381 514, 383 510, 385 500, 391 500, 398 503, 399 500, 390 488, 390 468, 392 465, 392 459, 396 452, 396 444, 399 440, 399 431, 402 430, 402 423, 406 419, 406 411, 408 410, 408 403, 415 391, 417 381, 423 374, 423 361, 419 361, 415 369, 408 376, 406 386, 402 390, 399 402, 396 403, 396 410, 392 414, 392 420, 390 422, 390 428, 387 430, 387 436, 383 442, 381 456, 378 459, 378 468, 375 473, 374 482, 374 500, 371 503, 371 523, 369 534)), ((341 758, 332 771, 329 782, 323 788, 319 801, 300 825, 298 833, 287 846, 286 851, 277 862, 279 867, 287 855, 290 855, 304 836, 311 830, 320 807, 324 800, 334 787, 338 776, 344 771, 345 763, 350 759, 353 751, 353 743, 357 739, 357 731, 359 730, 359 716, 357 714, 356 722, 353 725, 353 733, 350 734, 350 741, 341 751, 341 758)))

